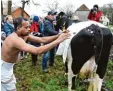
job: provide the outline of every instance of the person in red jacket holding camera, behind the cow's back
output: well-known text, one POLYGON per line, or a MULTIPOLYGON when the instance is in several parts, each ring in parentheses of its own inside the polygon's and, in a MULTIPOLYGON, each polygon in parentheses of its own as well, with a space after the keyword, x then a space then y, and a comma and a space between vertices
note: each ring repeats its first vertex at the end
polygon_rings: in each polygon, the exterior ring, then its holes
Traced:
POLYGON ((99 10, 98 5, 94 5, 93 9, 91 9, 88 19, 100 22, 100 17, 103 15, 102 11, 99 10))

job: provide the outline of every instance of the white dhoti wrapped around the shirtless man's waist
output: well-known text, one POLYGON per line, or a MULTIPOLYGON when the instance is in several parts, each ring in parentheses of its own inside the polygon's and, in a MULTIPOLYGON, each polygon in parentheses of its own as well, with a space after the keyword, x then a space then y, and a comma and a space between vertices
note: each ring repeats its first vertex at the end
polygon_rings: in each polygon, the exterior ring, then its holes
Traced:
POLYGON ((13 74, 14 63, 1 60, 1 91, 16 91, 16 79, 13 74))

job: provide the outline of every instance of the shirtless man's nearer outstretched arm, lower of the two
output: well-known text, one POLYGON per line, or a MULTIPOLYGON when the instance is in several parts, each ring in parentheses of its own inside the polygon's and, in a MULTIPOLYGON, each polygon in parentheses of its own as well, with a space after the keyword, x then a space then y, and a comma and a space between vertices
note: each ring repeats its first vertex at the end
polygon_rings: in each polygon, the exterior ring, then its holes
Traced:
POLYGON ((70 36, 70 34, 68 34, 68 33, 62 33, 53 42, 51 42, 47 45, 44 45, 44 46, 40 46, 40 47, 35 47, 33 45, 27 44, 27 43, 25 43, 25 41, 23 39, 20 38, 20 39, 18 39, 18 41, 17 40, 14 41, 14 46, 15 46, 15 48, 25 51, 25 52, 29 52, 29 53, 33 53, 33 54, 41 54, 46 51, 49 51, 50 49, 55 47, 57 44, 61 43, 65 39, 67 39, 69 36, 70 36))

